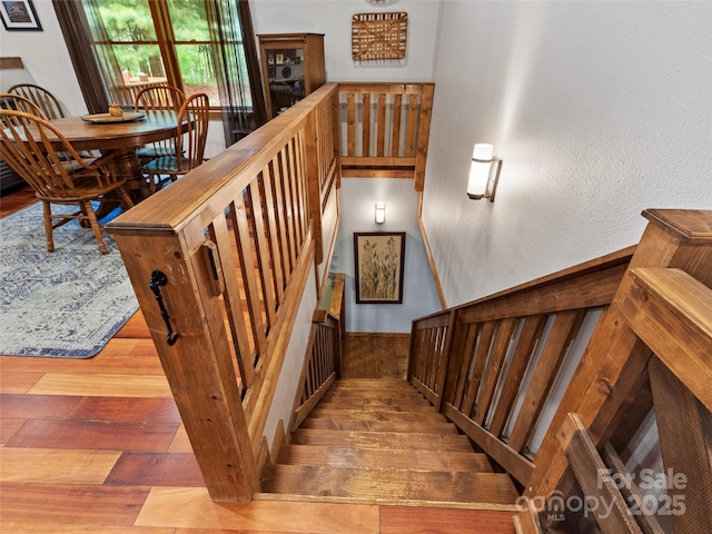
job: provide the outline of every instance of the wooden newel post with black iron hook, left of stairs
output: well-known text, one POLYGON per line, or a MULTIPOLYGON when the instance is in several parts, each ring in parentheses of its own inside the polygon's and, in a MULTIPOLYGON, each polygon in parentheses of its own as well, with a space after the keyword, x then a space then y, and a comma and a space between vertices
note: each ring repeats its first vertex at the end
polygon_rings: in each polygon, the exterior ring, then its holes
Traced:
POLYGON ((215 502, 250 501, 259 492, 259 477, 222 307, 211 288, 201 247, 196 245, 205 239, 202 228, 174 233, 165 227, 119 222, 109 230, 126 264, 210 497, 215 502), (158 287, 150 284, 156 271, 164 275, 158 287))

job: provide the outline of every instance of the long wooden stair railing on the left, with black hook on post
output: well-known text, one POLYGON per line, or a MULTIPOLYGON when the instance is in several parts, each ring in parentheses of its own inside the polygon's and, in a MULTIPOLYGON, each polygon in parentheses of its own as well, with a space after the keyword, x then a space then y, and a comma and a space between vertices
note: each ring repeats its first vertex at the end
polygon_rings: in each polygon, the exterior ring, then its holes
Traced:
POLYGON ((336 195, 337 86, 109 225, 214 501, 259 491, 263 438, 336 195))

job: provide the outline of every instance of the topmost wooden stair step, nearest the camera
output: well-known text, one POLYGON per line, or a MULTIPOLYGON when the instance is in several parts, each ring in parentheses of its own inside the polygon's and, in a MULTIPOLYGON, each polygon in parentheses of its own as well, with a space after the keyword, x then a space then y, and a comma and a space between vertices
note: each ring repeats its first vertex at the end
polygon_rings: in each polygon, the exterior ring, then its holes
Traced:
POLYGON ((518 494, 504 473, 355 469, 267 464, 264 492, 380 500, 514 504, 518 494))

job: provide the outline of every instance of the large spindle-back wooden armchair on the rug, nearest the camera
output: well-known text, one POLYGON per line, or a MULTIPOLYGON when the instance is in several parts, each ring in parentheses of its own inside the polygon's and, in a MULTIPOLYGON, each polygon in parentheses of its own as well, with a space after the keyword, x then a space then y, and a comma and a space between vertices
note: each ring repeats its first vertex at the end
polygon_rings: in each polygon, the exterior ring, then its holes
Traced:
POLYGON ((0 158, 32 186, 34 196, 42 201, 47 250, 55 250, 55 228, 79 219, 89 224, 99 250, 107 254, 91 201, 115 201, 123 209, 134 206, 123 189, 126 180, 117 179, 108 167, 116 152, 88 162, 47 120, 6 109, 0 109, 0 117, 8 125, 0 129, 0 158), (60 154, 69 155, 71 165, 60 154), (52 214, 52 205, 76 205, 79 211, 52 214))

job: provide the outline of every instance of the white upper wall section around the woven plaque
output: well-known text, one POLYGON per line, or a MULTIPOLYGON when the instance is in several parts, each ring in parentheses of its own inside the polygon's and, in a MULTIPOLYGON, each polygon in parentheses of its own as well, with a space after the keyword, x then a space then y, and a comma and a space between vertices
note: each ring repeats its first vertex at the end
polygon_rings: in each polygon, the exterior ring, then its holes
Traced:
POLYGON ((433 81, 439 2, 400 0, 375 7, 364 0, 250 0, 255 33, 324 33, 327 81, 433 81), (355 65, 352 16, 364 12, 408 13, 408 49, 404 65, 355 65))

